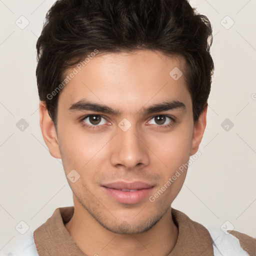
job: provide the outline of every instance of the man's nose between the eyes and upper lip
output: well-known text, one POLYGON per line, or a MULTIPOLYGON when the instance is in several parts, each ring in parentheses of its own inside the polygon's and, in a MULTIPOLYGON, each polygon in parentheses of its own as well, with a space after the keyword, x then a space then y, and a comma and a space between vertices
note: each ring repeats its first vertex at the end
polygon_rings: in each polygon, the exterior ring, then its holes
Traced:
POLYGON ((117 127, 116 135, 111 139, 111 164, 117 168, 132 170, 149 164, 149 145, 142 131, 138 132, 135 125, 123 131, 117 127))

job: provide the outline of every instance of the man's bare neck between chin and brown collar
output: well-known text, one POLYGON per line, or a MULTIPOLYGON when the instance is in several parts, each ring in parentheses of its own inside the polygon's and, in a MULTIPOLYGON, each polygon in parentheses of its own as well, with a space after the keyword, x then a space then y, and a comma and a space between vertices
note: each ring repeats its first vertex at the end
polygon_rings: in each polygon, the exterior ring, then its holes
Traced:
POLYGON ((93 256, 159 255, 165 256, 174 247, 178 228, 173 222, 171 209, 145 232, 117 234, 101 226, 78 202, 74 201, 74 214, 65 223, 80 250, 93 256))

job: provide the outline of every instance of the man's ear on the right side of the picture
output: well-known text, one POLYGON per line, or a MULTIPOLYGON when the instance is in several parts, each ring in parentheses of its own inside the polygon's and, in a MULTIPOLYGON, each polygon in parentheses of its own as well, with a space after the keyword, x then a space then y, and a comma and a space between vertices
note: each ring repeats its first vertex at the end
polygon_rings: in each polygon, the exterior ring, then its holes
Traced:
POLYGON ((195 123, 194 123, 190 155, 193 155, 197 152, 199 144, 201 142, 202 135, 203 135, 203 132, 204 132, 204 129, 206 126, 206 112, 207 112, 207 104, 205 104, 197 121, 195 121, 195 123))

